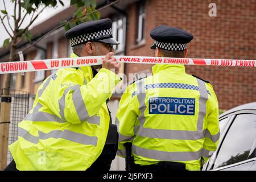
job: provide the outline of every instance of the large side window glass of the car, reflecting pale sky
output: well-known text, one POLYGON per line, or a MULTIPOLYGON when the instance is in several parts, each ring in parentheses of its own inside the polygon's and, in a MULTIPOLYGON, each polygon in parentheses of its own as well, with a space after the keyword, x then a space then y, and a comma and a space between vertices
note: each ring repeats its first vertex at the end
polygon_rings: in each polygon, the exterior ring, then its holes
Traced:
POLYGON ((214 168, 246 160, 255 137, 256 114, 238 114, 221 144, 214 168))

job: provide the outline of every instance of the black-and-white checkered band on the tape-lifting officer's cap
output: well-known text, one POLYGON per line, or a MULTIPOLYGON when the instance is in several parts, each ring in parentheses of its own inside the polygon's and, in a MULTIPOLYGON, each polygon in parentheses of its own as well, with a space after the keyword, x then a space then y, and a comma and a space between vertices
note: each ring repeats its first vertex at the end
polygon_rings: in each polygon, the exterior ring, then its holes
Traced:
POLYGON ((106 30, 93 32, 93 33, 90 33, 90 34, 75 36, 75 37, 70 39, 71 46, 73 47, 73 46, 76 46, 78 44, 82 44, 82 43, 88 42, 90 40, 100 38, 101 36, 104 36, 104 35, 109 35, 109 38, 112 38, 112 29, 109 28, 109 29, 106 29, 106 30))

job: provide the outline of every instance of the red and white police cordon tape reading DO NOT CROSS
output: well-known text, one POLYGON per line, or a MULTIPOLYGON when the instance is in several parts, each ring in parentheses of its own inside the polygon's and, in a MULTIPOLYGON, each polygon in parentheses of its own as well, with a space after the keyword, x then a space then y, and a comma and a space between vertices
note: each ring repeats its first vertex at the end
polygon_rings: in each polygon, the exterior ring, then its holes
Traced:
MULTIPOLYGON (((105 56, 74 57, 60 59, 15 61, 0 63, 0 74, 42 71, 59 68, 76 68, 89 65, 102 64, 105 56)), ((188 65, 214 65, 228 67, 256 67, 256 60, 231 59, 193 59, 173 57, 146 57, 146 56, 113 56, 119 63, 139 64, 188 64, 188 65)))

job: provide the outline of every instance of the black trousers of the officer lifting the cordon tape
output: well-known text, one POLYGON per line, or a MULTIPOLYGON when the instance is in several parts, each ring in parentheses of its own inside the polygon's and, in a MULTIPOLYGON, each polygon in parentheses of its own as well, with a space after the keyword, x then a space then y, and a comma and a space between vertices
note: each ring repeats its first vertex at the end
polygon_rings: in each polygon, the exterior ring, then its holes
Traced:
MULTIPOLYGON (((114 160, 118 149, 118 133, 116 125, 109 125, 108 137, 105 146, 98 159, 86 171, 109 171, 112 160, 114 160)), ((4 171, 18 171, 14 160, 4 169, 4 171)))

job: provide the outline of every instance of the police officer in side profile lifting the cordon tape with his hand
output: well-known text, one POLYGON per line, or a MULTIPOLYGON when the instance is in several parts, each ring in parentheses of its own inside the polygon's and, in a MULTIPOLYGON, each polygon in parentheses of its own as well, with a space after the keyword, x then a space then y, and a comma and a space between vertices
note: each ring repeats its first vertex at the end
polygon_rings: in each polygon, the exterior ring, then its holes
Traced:
POLYGON ((119 43, 111 27, 110 19, 101 19, 66 32, 71 57, 106 55, 102 68, 59 69, 40 85, 32 110, 18 125, 18 140, 9 146, 18 170, 110 168, 116 152, 111 144, 118 135, 110 133, 106 139, 110 128, 115 131, 106 100, 120 81, 120 64, 112 57, 112 46, 119 43), (104 146, 110 157, 98 161, 104 146))

